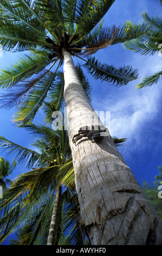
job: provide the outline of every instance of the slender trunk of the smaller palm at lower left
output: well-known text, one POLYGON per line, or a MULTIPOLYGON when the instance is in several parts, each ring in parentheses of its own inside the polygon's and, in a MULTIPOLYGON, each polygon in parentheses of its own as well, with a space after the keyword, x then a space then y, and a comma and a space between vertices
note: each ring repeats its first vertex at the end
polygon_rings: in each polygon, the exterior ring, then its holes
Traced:
POLYGON ((54 208, 52 213, 51 224, 49 227, 47 245, 54 245, 54 241, 57 235, 57 221, 58 221, 58 215, 59 215, 60 199, 61 199, 61 186, 58 185, 55 193, 55 203, 54 203, 54 208))

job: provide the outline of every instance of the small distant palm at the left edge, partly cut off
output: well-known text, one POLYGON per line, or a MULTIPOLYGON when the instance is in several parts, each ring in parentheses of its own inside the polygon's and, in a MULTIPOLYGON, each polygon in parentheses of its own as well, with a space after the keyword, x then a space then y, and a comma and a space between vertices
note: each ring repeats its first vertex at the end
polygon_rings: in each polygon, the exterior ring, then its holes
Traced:
POLYGON ((15 167, 15 160, 13 160, 13 163, 10 164, 8 160, 5 161, 3 157, 0 157, 0 186, 2 186, 3 188, 7 188, 7 184, 10 184, 10 180, 6 177, 13 172, 15 167))

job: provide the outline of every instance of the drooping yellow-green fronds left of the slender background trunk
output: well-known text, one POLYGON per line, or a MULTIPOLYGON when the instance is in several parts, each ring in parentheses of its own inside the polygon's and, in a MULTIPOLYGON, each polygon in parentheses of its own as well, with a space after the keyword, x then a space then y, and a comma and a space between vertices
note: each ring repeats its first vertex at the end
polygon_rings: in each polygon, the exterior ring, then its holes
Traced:
MULTIPOLYGON (((51 174, 53 175, 54 173, 52 172, 51 174)), ((30 234, 30 238, 33 238, 33 235, 35 236, 38 233, 38 224, 45 218, 47 208, 51 204, 51 199, 53 200, 53 193, 48 192, 48 186, 42 186, 42 175, 43 172, 41 170, 40 172, 33 170, 32 172, 22 174, 5 191, 5 200, 0 205, 0 212, 2 214, 0 220, 1 241, 18 227, 23 228, 28 223, 33 223, 36 220, 36 230, 30 234), (44 191, 46 193, 43 195, 44 191)), ((46 183, 47 177, 44 176, 44 178, 46 183)), ((55 186, 53 192, 54 190, 55 186)))

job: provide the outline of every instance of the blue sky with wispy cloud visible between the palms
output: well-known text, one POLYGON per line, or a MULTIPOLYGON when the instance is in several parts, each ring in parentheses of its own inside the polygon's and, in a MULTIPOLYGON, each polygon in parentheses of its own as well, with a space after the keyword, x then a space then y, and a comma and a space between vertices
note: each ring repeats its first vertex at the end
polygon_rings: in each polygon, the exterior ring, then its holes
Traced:
MULTIPOLYGON (((104 17, 104 26, 120 25, 127 20, 141 23, 141 12, 146 11, 151 16, 160 16, 161 9, 158 0, 116 0, 104 17)), ((110 111, 111 136, 127 138, 120 152, 138 182, 141 184, 142 178, 147 181, 154 180, 154 176, 158 174, 158 166, 162 165, 161 81, 152 87, 140 90, 135 86, 145 76, 161 70, 162 57, 158 54, 141 56, 124 49, 120 44, 98 51, 96 58, 117 67, 125 64, 139 70, 138 80, 123 87, 109 86, 105 82, 92 79, 89 75, 88 79, 92 84, 91 103, 96 111, 110 111)), ((3 52, 3 57, 0 57, 0 69, 5 69, 16 59, 17 54, 3 52)), ((11 123, 13 112, 13 109, 10 111, 0 109, 0 135, 31 148, 32 136, 26 130, 17 129, 11 123)), ((35 121, 37 122, 40 117, 41 115, 38 115, 35 121)), ((0 155, 9 161, 14 159, 14 156, 6 157, 1 151, 0 155)), ((27 169, 21 164, 17 164, 10 178, 13 179, 26 171, 27 169)))

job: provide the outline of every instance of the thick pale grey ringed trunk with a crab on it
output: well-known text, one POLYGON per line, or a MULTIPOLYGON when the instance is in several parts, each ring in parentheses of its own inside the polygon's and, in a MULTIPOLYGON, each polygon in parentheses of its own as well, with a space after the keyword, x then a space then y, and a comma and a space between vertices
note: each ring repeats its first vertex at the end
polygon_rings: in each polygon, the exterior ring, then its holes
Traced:
POLYGON ((99 143, 73 135, 98 117, 64 55, 64 97, 80 212, 91 245, 162 244, 162 224, 111 137, 99 143), (92 118, 93 117, 93 118, 92 118))

